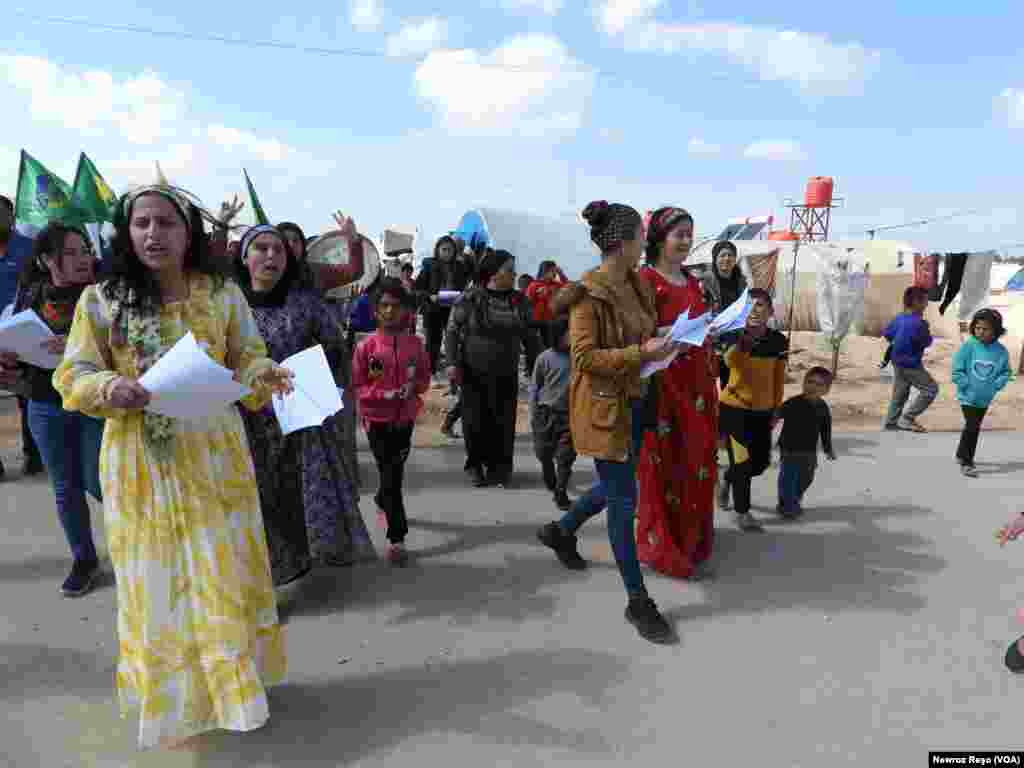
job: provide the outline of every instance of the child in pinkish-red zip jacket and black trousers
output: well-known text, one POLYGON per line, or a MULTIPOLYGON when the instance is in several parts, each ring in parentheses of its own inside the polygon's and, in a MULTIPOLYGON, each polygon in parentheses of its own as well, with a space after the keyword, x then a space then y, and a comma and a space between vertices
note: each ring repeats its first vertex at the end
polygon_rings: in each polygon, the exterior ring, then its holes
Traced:
POLYGON ((380 475, 374 501, 387 518, 388 560, 404 565, 409 521, 401 484, 413 427, 430 387, 430 358, 420 337, 409 333, 407 314, 416 306, 401 281, 382 280, 371 303, 377 331, 355 348, 352 386, 380 475))

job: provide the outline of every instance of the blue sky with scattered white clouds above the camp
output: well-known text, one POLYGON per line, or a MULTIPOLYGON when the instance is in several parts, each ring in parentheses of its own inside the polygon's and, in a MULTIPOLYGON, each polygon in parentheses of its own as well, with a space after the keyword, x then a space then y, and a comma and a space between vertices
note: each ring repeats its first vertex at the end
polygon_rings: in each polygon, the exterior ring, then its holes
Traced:
POLYGON ((309 231, 335 208, 371 234, 432 236, 474 205, 562 214, 602 198, 681 205, 714 234, 730 217, 784 215, 820 174, 847 198, 835 236, 980 210, 893 237, 1024 243, 1019 2, 12 4, 2 190, 23 146, 69 180, 84 150, 119 190, 159 159, 210 207, 243 190, 245 165, 271 218, 309 231))

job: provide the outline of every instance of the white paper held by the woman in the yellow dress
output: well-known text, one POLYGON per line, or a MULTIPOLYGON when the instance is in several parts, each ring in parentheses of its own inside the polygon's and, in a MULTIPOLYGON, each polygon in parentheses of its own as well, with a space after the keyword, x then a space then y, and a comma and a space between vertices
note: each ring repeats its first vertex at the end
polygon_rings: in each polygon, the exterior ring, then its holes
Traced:
POLYGON ((168 349, 138 383, 151 395, 146 411, 201 422, 223 413, 252 390, 234 381, 196 343, 191 332, 168 349))

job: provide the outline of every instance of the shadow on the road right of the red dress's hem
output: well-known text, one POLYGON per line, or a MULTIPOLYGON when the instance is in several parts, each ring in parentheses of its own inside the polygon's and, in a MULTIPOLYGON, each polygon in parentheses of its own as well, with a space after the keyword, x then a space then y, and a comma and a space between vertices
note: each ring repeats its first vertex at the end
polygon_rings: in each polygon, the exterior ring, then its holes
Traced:
POLYGON ((925 537, 888 530, 882 518, 930 515, 925 507, 823 507, 809 521, 847 523, 828 530, 801 529, 800 522, 765 519, 764 534, 716 530, 717 578, 707 584, 702 605, 675 611, 692 622, 725 613, 813 609, 913 613, 925 606, 922 577, 946 567, 925 537))

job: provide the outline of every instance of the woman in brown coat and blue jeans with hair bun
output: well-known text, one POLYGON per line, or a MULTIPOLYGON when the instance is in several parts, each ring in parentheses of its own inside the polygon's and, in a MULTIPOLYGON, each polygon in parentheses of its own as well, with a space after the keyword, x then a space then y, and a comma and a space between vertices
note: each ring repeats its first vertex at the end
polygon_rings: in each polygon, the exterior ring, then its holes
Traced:
POLYGON ((572 441, 581 455, 594 459, 598 481, 538 538, 566 567, 583 569, 587 562, 577 549, 577 530, 607 508, 608 539, 629 595, 626 618, 642 637, 667 642, 672 629, 644 587, 633 521, 645 394, 640 369, 668 357, 673 347, 655 336, 654 292, 636 272, 643 254, 640 214, 601 201, 587 206, 583 215, 601 249, 601 265, 563 289, 557 303, 570 306, 572 441))

